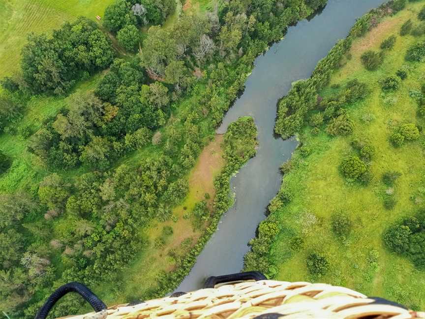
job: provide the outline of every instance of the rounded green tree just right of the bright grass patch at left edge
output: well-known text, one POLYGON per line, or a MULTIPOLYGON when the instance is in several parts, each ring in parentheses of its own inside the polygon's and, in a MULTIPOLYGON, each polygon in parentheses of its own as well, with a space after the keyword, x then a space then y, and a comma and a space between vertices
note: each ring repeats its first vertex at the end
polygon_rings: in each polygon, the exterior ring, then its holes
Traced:
POLYGON ((46 176, 38 188, 40 201, 49 209, 62 208, 68 196, 68 186, 57 173, 46 176))

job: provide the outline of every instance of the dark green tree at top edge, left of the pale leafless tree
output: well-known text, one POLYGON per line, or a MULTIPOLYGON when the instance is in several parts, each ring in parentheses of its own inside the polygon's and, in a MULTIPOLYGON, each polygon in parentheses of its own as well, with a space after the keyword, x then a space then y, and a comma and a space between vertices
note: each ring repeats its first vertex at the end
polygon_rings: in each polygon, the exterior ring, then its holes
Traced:
POLYGON ((131 4, 126 0, 115 0, 110 4, 103 17, 103 25, 112 32, 118 32, 126 25, 136 25, 137 20, 131 4))

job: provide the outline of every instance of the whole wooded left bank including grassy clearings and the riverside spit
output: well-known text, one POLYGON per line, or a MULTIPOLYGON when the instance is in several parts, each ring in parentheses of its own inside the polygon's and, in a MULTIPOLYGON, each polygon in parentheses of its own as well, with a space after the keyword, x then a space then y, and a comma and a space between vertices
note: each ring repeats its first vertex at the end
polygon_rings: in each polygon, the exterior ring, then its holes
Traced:
MULTIPOLYGON (((1 74, 0 308, 8 316, 32 318, 71 281, 125 301, 131 279, 122 271, 149 263, 148 250, 167 257, 145 269, 136 297, 164 295, 214 232, 231 204, 230 177, 255 155, 254 121, 229 127, 213 198, 206 193, 180 216, 188 174, 256 56, 326 1, 204 2, 111 1, 100 22, 79 17, 29 33, 19 69, 1 74), (197 235, 171 248, 183 220, 197 235)), ((84 309, 67 296, 51 316, 84 309)))

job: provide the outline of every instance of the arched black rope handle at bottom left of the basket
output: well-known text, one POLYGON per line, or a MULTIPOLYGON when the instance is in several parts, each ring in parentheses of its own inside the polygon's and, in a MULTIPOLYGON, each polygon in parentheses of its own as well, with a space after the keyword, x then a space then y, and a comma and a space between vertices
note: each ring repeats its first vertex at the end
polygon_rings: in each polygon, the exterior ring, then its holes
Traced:
POLYGON ((63 285, 56 289, 55 292, 53 292, 50 297, 47 298, 43 307, 38 310, 34 319, 46 319, 47 315, 49 315, 50 310, 53 308, 56 302, 68 292, 78 293, 84 298, 84 300, 90 303, 95 312, 99 312, 107 308, 103 301, 100 300, 88 287, 84 286, 83 284, 74 282, 63 285))

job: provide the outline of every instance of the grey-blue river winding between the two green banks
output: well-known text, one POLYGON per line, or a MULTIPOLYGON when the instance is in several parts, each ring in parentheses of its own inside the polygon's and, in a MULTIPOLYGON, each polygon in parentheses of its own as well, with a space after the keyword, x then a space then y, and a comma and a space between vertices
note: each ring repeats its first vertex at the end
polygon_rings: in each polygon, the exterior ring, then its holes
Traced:
POLYGON ((279 166, 297 146, 294 138, 284 141, 273 134, 278 99, 288 93, 292 82, 311 75, 337 40, 347 36, 357 18, 384 2, 328 0, 320 14, 290 27, 281 41, 257 57, 243 95, 217 129, 217 133, 225 133, 239 117, 252 116, 258 129, 257 155, 232 178, 235 205, 222 216, 217 231, 176 291, 199 289, 209 276, 241 271, 247 243, 265 219, 268 203, 282 182, 279 166))

